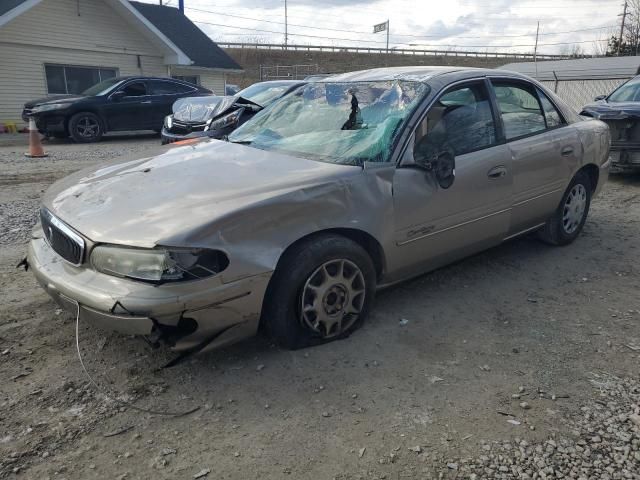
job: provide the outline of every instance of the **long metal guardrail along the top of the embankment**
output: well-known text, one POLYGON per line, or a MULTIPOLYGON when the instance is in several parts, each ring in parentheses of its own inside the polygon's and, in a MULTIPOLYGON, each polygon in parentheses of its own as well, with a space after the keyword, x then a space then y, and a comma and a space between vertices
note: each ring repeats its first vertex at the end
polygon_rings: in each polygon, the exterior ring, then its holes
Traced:
MULTIPOLYGON (((347 53, 377 53, 389 55, 424 55, 440 57, 473 57, 473 58, 512 58, 533 60, 532 53, 507 53, 507 52, 472 52, 464 50, 421 50, 410 48, 371 48, 371 47, 340 47, 327 45, 287 45, 279 43, 240 43, 217 42, 221 48, 245 48, 253 50, 293 50, 305 52, 347 52, 347 53)), ((537 54, 538 60, 563 60, 569 58, 566 55, 537 54)))

